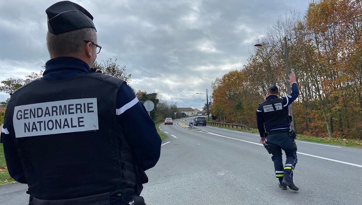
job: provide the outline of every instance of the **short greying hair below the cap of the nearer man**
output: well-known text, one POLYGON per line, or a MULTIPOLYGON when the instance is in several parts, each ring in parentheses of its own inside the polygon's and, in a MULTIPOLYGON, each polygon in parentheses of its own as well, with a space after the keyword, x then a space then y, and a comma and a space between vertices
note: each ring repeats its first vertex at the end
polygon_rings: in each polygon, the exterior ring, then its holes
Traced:
POLYGON ((84 28, 58 35, 49 33, 48 31, 46 35, 46 45, 52 57, 79 54, 81 48, 85 46, 84 40, 96 43, 96 30, 93 28, 84 28))

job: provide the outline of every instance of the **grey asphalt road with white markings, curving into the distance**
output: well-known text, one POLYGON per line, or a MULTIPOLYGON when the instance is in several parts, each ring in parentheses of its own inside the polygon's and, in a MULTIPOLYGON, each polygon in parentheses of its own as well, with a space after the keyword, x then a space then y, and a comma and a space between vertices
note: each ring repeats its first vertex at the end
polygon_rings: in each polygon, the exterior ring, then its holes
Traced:
MULTIPOLYGON (((362 149, 296 141, 299 191, 281 190, 259 136, 211 126, 190 130, 178 121, 160 125, 168 138, 159 162, 146 171, 148 205, 362 204, 362 149)), ((1 186, 0 204, 27 204, 26 189, 1 186)))

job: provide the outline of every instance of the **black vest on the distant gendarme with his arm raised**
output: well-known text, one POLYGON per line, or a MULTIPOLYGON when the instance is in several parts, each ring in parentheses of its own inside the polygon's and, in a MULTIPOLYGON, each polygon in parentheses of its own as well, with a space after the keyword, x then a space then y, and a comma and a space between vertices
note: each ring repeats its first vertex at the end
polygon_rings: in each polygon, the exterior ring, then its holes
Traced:
POLYGON ((260 104, 265 127, 288 123, 288 109, 283 106, 282 98, 268 99, 260 104))

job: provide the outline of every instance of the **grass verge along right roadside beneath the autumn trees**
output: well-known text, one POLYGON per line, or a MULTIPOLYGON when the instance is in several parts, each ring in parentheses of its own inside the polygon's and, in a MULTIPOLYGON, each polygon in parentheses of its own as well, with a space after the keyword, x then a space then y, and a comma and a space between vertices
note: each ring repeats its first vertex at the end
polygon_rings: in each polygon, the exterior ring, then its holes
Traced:
MULTIPOLYGON (((225 126, 218 126, 218 125, 210 125, 212 127, 219 127, 224 129, 232 129, 236 131, 241 132, 249 132, 249 133, 259 133, 257 129, 236 129, 236 128, 229 128, 225 126)), ((331 137, 314 137, 314 136, 307 136, 303 134, 297 134, 296 140, 303 140, 308 142, 317 142, 322 144, 331 144, 331 145, 340 145, 340 146, 346 146, 346 147, 353 147, 353 148, 361 148, 362 149, 362 140, 359 139, 344 139, 344 138, 331 138, 331 137)))

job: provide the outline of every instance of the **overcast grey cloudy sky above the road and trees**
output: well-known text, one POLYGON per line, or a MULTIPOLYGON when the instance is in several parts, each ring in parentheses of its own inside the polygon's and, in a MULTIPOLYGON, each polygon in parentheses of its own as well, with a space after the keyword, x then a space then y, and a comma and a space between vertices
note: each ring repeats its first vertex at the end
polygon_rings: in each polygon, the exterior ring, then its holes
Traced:
MULTIPOLYGON (((54 0, 0 0, 0 80, 24 78, 49 60, 45 9, 54 0)), ((94 17, 97 60, 117 58, 135 90, 201 109, 211 82, 241 69, 252 40, 307 0, 74 0, 94 17)), ((0 93, 0 101, 8 98, 0 93)))

